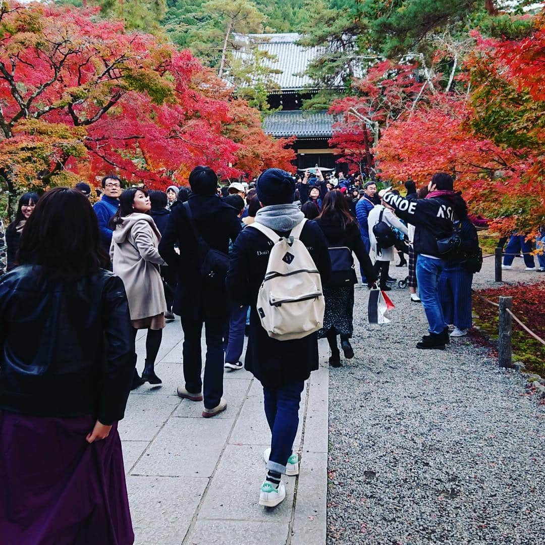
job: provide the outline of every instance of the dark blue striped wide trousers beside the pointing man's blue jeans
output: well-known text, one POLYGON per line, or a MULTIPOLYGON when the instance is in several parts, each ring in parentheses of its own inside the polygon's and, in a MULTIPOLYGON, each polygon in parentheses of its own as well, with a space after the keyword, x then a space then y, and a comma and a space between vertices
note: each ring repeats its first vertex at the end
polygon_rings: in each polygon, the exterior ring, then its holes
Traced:
POLYGON ((439 278, 439 300, 447 324, 458 329, 470 329, 471 320, 471 283, 473 274, 462 265, 445 267, 439 278))

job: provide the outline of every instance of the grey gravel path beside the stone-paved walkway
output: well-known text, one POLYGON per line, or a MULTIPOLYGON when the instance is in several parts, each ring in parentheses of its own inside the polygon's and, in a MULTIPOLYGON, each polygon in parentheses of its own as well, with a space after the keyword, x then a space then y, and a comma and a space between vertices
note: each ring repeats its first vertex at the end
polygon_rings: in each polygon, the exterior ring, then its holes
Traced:
MULTIPOLYGON (((494 285, 493 261, 474 286, 494 285)), ((505 280, 543 278, 519 261, 505 280)), ((368 324, 367 293, 356 358, 330 369, 328 545, 545 543, 545 406, 468 341, 414 348, 427 328, 407 289, 368 324)))

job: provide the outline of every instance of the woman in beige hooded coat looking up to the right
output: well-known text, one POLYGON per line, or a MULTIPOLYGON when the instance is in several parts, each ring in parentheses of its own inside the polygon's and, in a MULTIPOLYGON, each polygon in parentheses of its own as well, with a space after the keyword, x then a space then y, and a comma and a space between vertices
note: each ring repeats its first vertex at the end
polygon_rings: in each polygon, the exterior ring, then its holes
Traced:
POLYGON ((164 265, 158 246, 161 233, 149 211, 152 204, 146 192, 132 187, 119 197, 119 210, 112 218, 110 257, 113 271, 121 277, 129 299, 134 338, 139 329, 147 329, 146 364, 142 378, 136 371, 133 388, 144 382, 161 384, 155 374, 155 359, 161 346, 167 303, 159 265, 164 265))

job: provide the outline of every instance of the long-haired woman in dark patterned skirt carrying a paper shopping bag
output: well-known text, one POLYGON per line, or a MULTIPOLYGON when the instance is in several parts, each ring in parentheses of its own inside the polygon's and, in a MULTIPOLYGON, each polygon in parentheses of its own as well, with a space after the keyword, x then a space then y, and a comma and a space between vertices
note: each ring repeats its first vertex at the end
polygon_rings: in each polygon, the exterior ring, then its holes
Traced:
POLYGON ((316 221, 330 248, 332 274, 329 284, 324 286, 325 316, 319 338, 327 338, 331 357, 331 367, 341 366, 341 355, 337 345, 337 336, 341 337, 344 357, 354 358, 350 337, 354 331, 354 284, 358 282, 353 267, 352 252, 355 253, 367 281, 373 283, 377 275, 371 259, 361 240, 358 222, 348 210, 348 202, 341 191, 330 191, 324 197, 322 213, 316 221))

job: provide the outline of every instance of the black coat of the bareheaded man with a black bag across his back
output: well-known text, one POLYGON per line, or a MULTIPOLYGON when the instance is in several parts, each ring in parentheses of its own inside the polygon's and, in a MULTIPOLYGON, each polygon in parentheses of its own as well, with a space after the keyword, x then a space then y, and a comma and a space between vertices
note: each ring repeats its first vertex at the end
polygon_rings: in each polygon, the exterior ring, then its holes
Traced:
MULTIPOLYGON (((212 249, 228 253, 229 240, 234 241, 240 232, 240 220, 234 208, 217 196, 194 194, 187 202, 202 238, 212 249)), ((159 253, 178 273, 173 312, 182 319, 227 318, 229 306, 225 287, 210 289, 204 286, 197 239, 183 206, 171 210, 167 229, 159 243, 159 253), (178 245, 180 255, 175 252, 175 245, 178 245)))

